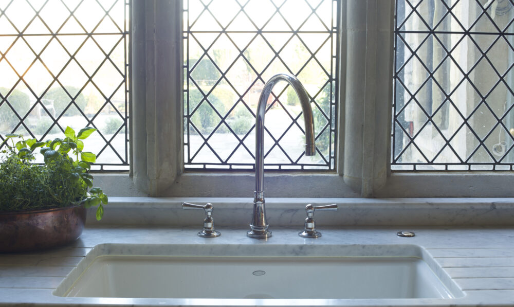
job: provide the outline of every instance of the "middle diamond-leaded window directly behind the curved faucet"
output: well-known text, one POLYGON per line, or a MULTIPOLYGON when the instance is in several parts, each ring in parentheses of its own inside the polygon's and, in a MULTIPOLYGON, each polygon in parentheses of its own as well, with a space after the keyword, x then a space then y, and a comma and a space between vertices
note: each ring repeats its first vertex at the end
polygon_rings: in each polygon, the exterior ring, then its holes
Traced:
POLYGON ((279 83, 266 112, 265 168, 334 169, 337 4, 185 0, 186 168, 253 168, 260 92, 288 73, 311 98, 317 154, 305 156, 300 104, 279 83))

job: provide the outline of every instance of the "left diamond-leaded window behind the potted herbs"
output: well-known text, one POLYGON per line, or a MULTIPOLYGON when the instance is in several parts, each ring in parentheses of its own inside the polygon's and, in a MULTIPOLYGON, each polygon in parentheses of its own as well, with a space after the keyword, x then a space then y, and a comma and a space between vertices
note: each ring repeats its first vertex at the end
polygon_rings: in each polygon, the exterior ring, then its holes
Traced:
POLYGON ((39 140, 67 126, 85 140, 96 169, 128 169, 128 0, 4 1, 0 4, 0 142, 39 140))

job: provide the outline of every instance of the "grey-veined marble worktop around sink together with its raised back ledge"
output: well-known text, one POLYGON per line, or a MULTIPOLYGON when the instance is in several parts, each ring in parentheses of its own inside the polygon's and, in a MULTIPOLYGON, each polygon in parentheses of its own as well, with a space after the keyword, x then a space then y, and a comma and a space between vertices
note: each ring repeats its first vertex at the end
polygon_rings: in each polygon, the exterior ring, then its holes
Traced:
MULTIPOLYGON (((205 255, 227 252, 232 255, 242 255, 272 252, 279 256, 340 255, 341 252, 351 253, 356 248, 361 248, 360 254, 379 255, 384 251, 401 254, 405 252, 405 248, 401 246, 417 245, 423 247, 438 264, 433 269, 442 270, 442 273, 451 277, 464 290, 464 297, 450 300, 347 299, 332 301, 332 305, 439 307, 511 307, 514 305, 514 226, 512 221, 508 221, 510 217, 508 214, 511 214, 509 212, 514 211, 514 200, 510 198, 403 201, 334 198, 271 199, 267 202, 267 210, 269 210, 270 229, 273 231, 273 236, 267 240, 246 237, 251 202, 240 203, 238 200, 221 198, 211 200, 210 202, 215 204, 216 229, 222 232, 222 236, 205 239, 196 236, 196 232, 201 229, 203 213, 181 210, 181 201, 206 202, 204 198, 116 199, 106 207, 105 221, 89 222, 81 238, 70 246, 34 253, 0 255, 0 305, 161 306, 172 304, 170 300, 67 298, 52 295, 77 265, 83 265, 80 264, 81 260, 88 252, 94 250, 95 246, 105 243, 120 244, 116 247, 120 248, 119 252, 130 248, 127 244, 139 244, 138 252, 141 252, 144 250, 144 245, 141 244, 146 244, 151 245, 154 251, 157 248, 163 254, 173 252, 187 255, 198 254, 201 251, 205 255), (298 231, 303 227, 302 207, 305 201, 316 204, 338 203, 340 206, 337 212, 326 212, 326 214, 316 212, 320 213, 316 215, 316 220, 318 230, 323 233, 321 238, 305 239, 298 236, 298 231), (301 209, 293 209, 297 207, 301 209), (237 212, 231 216, 231 211, 237 212), (388 213, 384 214, 384 212, 388 213), (450 212, 455 214, 451 215, 450 212), (117 214, 121 216, 109 216, 117 214), (359 216, 359 214, 370 214, 370 216, 359 216), (418 221, 423 220, 424 214, 427 214, 428 222, 418 224, 418 221), (350 216, 345 217, 345 215, 350 216), (402 217, 395 218, 397 215, 402 217), (494 216, 499 215, 502 215, 502 219, 494 223, 494 216), (440 222, 442 226, 424 226, 437 218, 444 220, 440 222), (157 221, 152 223, 152 219, 157 221), (163 225, 166 219, 169 219, 170 223, 163 225), (148 224, 141 225, 144 221, 148 224), (451 221, 455 223, 451 224, 451 221), (414 231, 416 236, 397 237, 396 232, 399 230, 414 231)), ((109 246, 113 248, 115 245, 109 246)), ((314 301, 301 300, 263 303, 267 305, 316 304, 314 301)), ((206 305, 209 303, 206 302, 206 305)), ((221 303, 221 305, 224 304, 221 303)), ((248 305, 248 302, 240 302, 239 305, 248 305)))

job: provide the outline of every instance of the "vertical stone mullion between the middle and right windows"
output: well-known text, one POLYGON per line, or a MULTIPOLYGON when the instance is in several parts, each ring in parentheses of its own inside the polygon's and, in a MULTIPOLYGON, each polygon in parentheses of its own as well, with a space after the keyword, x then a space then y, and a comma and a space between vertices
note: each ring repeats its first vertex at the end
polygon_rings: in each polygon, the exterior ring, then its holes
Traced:
POLYGON ((348 0, 346 5, 343 176, 369 197, 386 184, 390 163, 394 1, 348 0))

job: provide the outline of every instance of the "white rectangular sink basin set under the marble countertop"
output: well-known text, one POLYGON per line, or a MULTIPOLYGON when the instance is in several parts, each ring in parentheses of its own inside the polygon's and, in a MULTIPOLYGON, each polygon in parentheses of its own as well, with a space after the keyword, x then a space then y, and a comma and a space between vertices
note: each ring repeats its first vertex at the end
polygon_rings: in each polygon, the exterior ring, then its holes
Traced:
POLYGON ((54 295, 170 298, 187 305, 194 299, 448 299, 464 294, 416 245, 102 244, 54 295))

